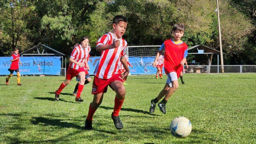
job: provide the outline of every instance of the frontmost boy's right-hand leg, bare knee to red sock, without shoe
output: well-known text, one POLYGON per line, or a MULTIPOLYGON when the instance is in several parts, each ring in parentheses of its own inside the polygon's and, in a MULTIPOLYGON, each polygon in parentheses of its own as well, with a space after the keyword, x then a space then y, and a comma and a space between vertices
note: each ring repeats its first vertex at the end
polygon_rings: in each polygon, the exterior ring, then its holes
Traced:
POLYGON ((124 88, 124 84, 121 81, 116 80, 116 81, 112 82, 110 84, 110 86, 116 92, 113 116, 119 116, 119 112, 122 108, 125 93, 126 93, 125 88, 124 88))

